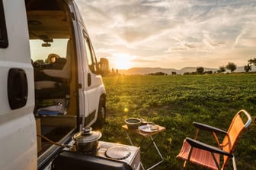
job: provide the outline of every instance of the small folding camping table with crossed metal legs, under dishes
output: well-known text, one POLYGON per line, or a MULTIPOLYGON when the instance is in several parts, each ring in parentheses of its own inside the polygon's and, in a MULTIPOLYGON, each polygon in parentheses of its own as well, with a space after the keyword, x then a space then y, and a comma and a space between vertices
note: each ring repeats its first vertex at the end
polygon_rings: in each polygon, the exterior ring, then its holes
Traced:
POLYGON ((152 131, 152 132, 144 132, 144 131, 141 131, 139 130, 139 128, 136 128, 136 129, 129 129, 127 127, 127 125, 123 125, 122 128, 123 130, 125 131, 126 133, 126 136, 128 137, 128 140, 130 141, 130 144, 132 146, 133 145, 133 141, 131 140, 130 138, 130 134, 138 134, 139 136, 142 137, 142 140, 140 140, 138 146, 140 146, 140 144, 142 143, 142 141, 146 138, 146 137, 149 137, 150 140, 151 140, 151 143, 149 143, 149 145, 146 147, 146 150, 144 153, 146 153, 146 151, 149 149, 149 146, 151 146, 152 144, 155 146, 155 150, 158 152, 158 156, 160 156, 161 160, 157 163, 155 163, 154 165, 150 166, 149 168, 145 169, 144 166, 142 165, 142 169, 143 170, 149 170, 149 169, 152 169, 152 168, 155 168, 155 166, 159 165, 160 163, 164 162, 164 157, 162 156, 162 153, 160 153, 159 149, 158 149, 158 146, 156 145, 155 143, 155 139, 156 137, 158 137, 158 134, 165 131, 165 127, 162 127, 162 126, 159 126, 158 125, 158 130, 157 131, 152 131))

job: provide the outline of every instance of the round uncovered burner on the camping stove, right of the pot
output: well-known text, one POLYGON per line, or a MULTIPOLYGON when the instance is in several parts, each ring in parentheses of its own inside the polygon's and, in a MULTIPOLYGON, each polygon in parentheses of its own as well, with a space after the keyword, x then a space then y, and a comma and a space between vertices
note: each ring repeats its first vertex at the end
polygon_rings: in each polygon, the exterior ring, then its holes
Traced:
POLYGON ((105 152, 105 155, 111 159, 126 159, 131 155, 131 151, 126 146, 111 146, 105 152))

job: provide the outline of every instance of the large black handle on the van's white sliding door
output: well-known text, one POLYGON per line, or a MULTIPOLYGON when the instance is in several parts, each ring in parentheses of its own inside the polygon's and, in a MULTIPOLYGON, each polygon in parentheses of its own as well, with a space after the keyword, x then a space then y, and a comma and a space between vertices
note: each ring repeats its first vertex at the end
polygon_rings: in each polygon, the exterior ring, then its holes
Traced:
POLYGON ((27 103, 27 76, 21 68, 11 68, 8 72, 8 101, 11 109, 27 103))

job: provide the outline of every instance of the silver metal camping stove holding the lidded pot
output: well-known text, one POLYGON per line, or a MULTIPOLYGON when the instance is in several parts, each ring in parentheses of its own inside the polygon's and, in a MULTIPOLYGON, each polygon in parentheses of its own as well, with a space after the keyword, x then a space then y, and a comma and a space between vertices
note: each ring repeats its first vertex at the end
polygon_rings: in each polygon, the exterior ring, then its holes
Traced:
MULTIPOLYGON (((73 141, 69 145, 73 145, 73 141)), ((66 149, 73 152, 79 152, 75 149, 73 145, 72 148, 66 149)), ((128 146, 119 143, 109 143, 104 141, 99 141, 98 149, 90 153, 82 153, 83 155, 92 155, 103 157, 109 159, 110 161, 120 161, 125 162, 130 165, 133 170, 139 170, 140 162, 140 149, 136 146, 128 146)))

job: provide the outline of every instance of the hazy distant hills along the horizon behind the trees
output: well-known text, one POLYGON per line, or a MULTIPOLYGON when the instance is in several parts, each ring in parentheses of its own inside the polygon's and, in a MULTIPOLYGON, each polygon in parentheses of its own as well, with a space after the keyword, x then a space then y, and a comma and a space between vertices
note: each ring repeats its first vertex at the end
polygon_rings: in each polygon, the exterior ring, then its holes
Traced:
MULTIPOLYGON (((184 74, 185 72, 194 72, 197 71, 198 67, 185 67, 180 70, 174 68, 130 68, 128 70, 119 70, 120 74, 150 74, 163 72, 165 74, 171 74, 171 72, 176 72, 177 74, 184 74)), ((204 68, 204 71, 217 71, 219 68, 204 68)), ((256 68, 253 66, 252 71, 256 71, 256 68)), ((229 72, 229 71, 228 71, 229 72)), ((245 72, 244 66, 237 67, 235 73, 245 72)))

